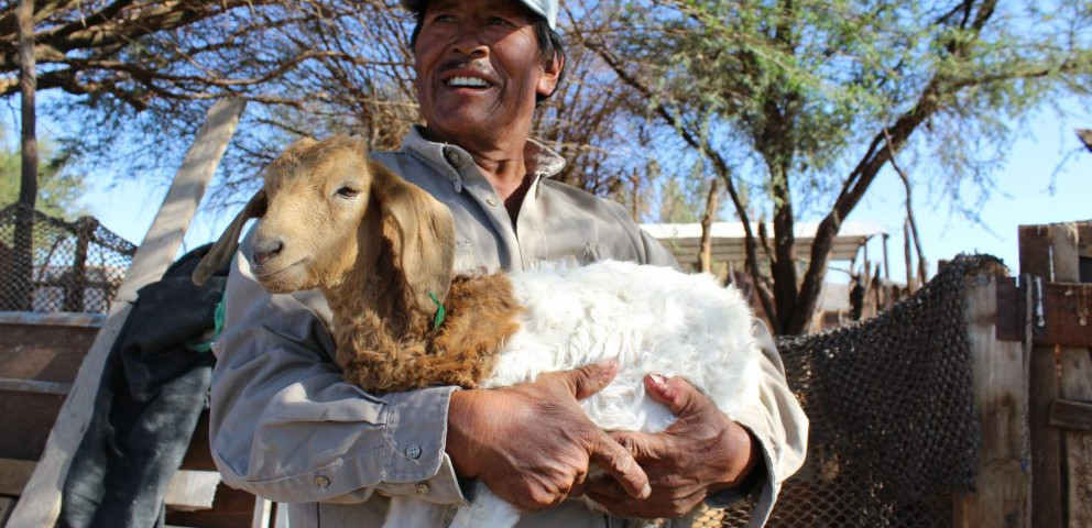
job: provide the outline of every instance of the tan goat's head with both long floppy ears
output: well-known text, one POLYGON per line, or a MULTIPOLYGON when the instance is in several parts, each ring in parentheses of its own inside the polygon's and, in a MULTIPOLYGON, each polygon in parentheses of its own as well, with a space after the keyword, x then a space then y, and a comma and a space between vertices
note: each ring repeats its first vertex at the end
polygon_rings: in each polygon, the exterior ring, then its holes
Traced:
POLYGON ((270 292, 337 287, 349 273, 371 273, 386 265, 375 262, 386 240, 384 254, 405 275, 417 307, 430 311, 429 294, 447 296, 455 248, 450 212, 371 162, 358 138, 303 139, 290 146, 266 168, 264 188, 217 245, 227 239, 233 248, 251 217, 262 220, 247 256, 270 292))

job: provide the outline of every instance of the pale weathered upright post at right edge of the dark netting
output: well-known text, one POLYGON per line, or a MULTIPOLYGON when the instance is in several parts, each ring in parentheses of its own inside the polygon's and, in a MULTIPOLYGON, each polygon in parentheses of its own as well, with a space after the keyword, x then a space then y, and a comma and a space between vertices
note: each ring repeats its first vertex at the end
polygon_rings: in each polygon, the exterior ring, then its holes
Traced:
POLYGON ((973 493, 956 497, 956 526, 1022 526, 1030 522, 1031 485, 1027 431, 1026 353, 1023 343, 997 339, 998 278, 968 277, 968 340, 974 373, 974 405, 982 427, 973 493))

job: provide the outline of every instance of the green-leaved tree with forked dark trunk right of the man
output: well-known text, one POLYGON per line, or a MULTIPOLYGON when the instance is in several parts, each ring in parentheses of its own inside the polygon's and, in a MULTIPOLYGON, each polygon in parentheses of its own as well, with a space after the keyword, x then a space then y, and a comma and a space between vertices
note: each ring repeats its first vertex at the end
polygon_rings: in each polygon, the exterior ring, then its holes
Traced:
POLYGON ((938 183, 952 189, 982 180, 989 163, 974 155, 1009 141, 1004 118, 1092 86, 1088 0, 622 7, 614 26, 632 31, 581 38, 709 160, 746 229, 747 268, 778 333, 807 329, 839 226, 896 154, 931 151, 947 170, 938 183), (801 210, 822 219, 802 277, 793 234, 801 210), (768 242, 751 227, 763 211, 768 242))

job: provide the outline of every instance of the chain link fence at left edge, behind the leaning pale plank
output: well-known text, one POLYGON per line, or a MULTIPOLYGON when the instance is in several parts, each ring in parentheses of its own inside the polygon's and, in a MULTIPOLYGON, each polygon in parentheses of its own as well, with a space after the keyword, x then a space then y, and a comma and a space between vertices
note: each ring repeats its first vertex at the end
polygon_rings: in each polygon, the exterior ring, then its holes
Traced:
POLYGON ((0 311, 105 314, 136 246, 91 217, 0 210, 0 311))

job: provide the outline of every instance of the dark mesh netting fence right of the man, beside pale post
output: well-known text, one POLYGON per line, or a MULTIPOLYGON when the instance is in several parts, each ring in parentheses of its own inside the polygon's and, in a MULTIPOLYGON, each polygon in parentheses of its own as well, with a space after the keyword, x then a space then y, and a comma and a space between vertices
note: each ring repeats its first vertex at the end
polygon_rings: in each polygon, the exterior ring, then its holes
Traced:
MULTIPOLYGON (((807 462, 785 482, 769 528, 953 525, 953 494, 973 490, 980 440, 963 282, 1001 266, 960 255, 873 319, 777 340, 811 427, 807 462)), ((744 527, 750 506, 710 510, 695 526, 744 527)))

